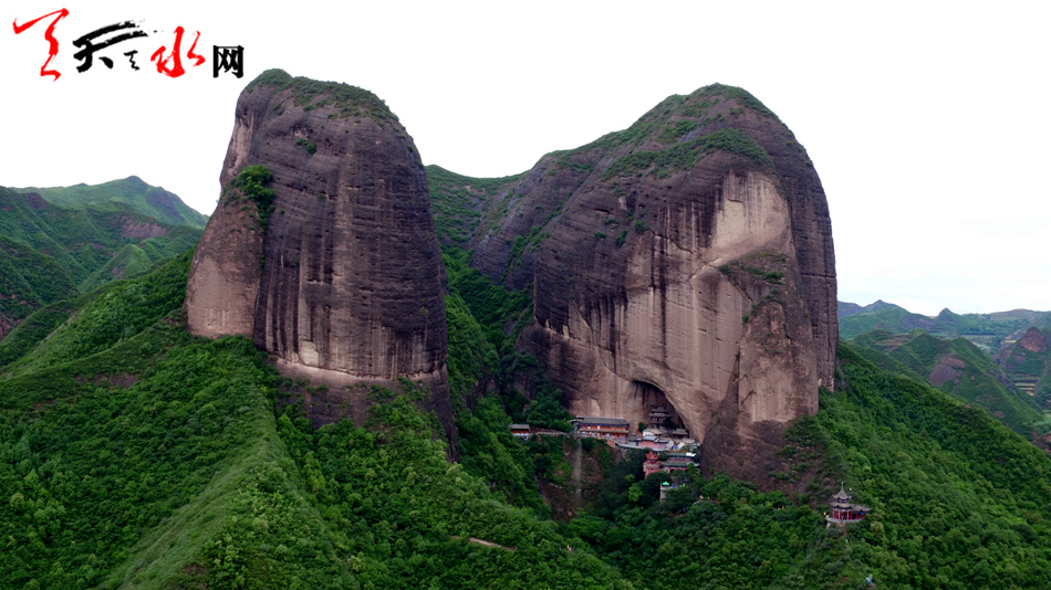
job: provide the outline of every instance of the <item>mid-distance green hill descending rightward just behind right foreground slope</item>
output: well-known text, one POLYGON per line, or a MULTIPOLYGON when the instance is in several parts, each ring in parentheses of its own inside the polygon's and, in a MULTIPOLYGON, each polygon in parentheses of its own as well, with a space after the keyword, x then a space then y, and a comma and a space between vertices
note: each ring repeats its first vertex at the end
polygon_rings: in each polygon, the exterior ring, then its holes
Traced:
POLYGON ((1033 398, 1017 392, 992 359, 965 338, 947 340, 923 330, 907 335, 876 330, 850 344, 861 354, 864 349, 884 352, 885 357, 866 358, 891 371, 897 365, 905 367, 941 391, 985 408, 1023 436, 1034 438, 1051 430, 1033 398))

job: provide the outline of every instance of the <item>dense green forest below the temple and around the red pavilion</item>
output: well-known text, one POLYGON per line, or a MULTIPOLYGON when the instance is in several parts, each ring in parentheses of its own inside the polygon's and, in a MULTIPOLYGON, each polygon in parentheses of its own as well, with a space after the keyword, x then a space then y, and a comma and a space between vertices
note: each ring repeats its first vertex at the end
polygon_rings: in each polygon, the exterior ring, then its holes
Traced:
POLYGON ((868 575, 886 588, 1044 587, 1051 460, 979 409, 849 347, 840 358, 846 391, 823 392, 780 453, 815 464, 808 495, 690 472, 659 503, 668 476, 641 482, 636 456, 563 533, 636 587, 857 588, 868 575), (842 533, 821 515, 841 480, 873 508, 842 533))

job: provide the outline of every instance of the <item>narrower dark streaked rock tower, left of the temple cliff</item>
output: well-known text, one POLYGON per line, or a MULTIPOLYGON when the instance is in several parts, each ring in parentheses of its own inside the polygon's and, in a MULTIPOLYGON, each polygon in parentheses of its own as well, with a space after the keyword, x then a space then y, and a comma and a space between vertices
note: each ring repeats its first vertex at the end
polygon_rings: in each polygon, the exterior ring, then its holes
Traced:
POLYGON ((330 408, 357 390, 342 386, 423 381, 451 439, 427 180, 386 105, 345 84, 266 72, 238 99, 220 182, 190 271, 190 330, 253 338, 283 373, 339 386, 314 400, 330 408), (235 186, 256 165, 273 176, 269 210, 235 186))

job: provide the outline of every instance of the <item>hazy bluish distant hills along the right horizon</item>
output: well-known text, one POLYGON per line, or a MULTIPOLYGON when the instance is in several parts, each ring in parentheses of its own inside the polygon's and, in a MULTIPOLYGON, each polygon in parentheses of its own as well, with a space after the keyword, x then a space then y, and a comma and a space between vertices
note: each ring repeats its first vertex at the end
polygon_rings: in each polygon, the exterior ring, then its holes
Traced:
POLYGON ((1031 326, 1051 327, 1051 312, 1012 309, 991 314, 955 314, 943 309, 937 316, 929 317, 883 301, 866 306, 837 303, 840 338, 844 340, 872 330, 907 334, 922 328, 940 338, 967 338, 992 355, 1012 344, 1031 326))

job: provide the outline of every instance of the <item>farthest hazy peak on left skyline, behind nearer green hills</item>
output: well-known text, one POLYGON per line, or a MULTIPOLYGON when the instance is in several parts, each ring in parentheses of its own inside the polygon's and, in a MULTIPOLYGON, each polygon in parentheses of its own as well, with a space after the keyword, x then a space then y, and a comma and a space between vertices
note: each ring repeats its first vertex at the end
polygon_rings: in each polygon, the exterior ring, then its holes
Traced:
POLYGON ((147 185, 137 176, 102 185, 80 183, 72 187, 30 187, 14 190, 23 193, 34 192, 48 202, 66 209, 91 207, 98 211, 132 211, 169 225, 189 225, 200 230, 208 223, 208 215, 197 212, 175 193, 147 185))

